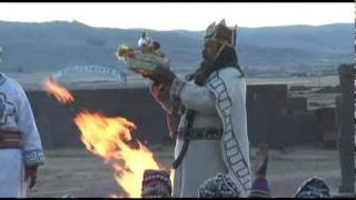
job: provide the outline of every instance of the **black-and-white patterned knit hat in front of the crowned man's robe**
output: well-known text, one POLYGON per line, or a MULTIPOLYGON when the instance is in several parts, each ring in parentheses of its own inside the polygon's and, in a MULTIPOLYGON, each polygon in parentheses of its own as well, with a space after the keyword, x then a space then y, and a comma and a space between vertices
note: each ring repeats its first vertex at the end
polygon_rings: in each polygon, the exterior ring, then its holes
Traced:
POLYGON ((227 174, 217 176, 199 186, 198 198, 234 198, 239 197, 238 189, 227 174))

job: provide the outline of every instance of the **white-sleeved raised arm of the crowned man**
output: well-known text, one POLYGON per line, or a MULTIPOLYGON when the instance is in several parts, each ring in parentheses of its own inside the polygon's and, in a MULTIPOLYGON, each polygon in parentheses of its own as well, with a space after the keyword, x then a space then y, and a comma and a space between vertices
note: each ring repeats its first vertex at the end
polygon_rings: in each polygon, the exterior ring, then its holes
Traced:
POLYGON ((180 99, 181 103, 191 110, 205 113, 216 112, 215 94, 207 87, 199 87, 176 78, 170 88, 170 98, 180 99))

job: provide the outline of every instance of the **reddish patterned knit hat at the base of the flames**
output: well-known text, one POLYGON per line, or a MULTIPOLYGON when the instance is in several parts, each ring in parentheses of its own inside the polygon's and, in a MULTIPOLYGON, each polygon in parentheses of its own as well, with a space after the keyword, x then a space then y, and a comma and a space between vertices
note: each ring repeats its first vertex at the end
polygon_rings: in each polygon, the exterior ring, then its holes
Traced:
POLYGON ((169 172, 165 170, 145 170, 141 196, 146 198, 171 196, 169 172))

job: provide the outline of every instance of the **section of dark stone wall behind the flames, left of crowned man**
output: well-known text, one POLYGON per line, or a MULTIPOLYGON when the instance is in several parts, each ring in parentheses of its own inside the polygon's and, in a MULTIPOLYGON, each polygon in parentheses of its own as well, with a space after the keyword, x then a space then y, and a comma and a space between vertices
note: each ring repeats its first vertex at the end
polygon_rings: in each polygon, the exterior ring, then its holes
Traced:
POLYGON ((138 127, 136 136, 142 141, 160 143, 167 138, 164 111, 148 89, 76 90, 72 93, 75 104, 63 106, 43 91, 27 92, 44 148, 82 146, 73 122, 81 109, 125 117, 138 127))

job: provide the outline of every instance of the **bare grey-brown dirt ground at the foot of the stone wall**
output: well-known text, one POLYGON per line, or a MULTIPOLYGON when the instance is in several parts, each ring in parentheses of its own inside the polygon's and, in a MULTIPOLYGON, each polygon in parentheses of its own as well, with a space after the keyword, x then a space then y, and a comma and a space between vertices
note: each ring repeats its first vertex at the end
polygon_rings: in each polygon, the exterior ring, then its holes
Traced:
MULTIPOLYGON (((151 147, 161 163, 169 167, 172 147, 151 147)), ((256 149, 250 151, 251 163, 256 149)), ((112 169, 90 154, 86 149, 47 150, 46 164, 40 168, 37 186, 28 197, 110 197, 122 194, 117 186, 112 169)), ((340 182, 339 162, 336 150, 318 147, 298 147, 269 151, 267 179, 273 197, 293 197, 304 180, 317 176, 326 180, 336 194, 340 182)), ((254 164, 251 164, 254 166, 254 164)), ((138 183, 140 186, 140 183, 138 183)))

